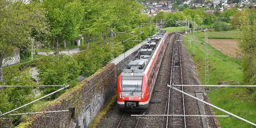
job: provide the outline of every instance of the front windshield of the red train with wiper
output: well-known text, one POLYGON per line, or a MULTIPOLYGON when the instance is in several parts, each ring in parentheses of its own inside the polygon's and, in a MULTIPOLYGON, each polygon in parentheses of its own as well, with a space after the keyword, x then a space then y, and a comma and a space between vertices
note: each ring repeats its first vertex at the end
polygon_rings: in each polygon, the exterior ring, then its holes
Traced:
POLYGON ((122 76, 122 92, 141 92, 143 76, 122 76))

